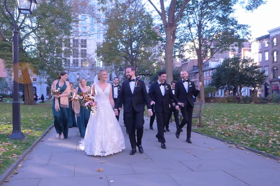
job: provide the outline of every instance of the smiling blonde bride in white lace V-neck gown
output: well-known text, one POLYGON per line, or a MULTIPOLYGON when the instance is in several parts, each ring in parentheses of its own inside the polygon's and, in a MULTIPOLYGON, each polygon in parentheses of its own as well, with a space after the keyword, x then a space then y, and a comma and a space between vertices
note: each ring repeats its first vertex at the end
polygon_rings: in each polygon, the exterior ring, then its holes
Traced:
POLYGON ((107 72, 100 70, 97 76, 98 81, 95 80, 91 90, 97 101, 97 110, 90 113, 85 138, 81 141, 80 148, 85 150, 87 155, 106 156, 125 149, 125 140, 113 111, 115 103, 112 86, 106 83, 107 72))

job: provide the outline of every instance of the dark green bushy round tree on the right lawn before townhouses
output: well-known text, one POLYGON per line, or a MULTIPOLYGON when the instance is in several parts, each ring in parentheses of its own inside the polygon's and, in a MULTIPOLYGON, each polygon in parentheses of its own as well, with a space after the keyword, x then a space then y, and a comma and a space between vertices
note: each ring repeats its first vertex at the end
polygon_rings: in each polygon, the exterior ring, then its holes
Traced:
POLYGON ((234 87, 242 101, 243 87, 258 87, 265 83, 266 75, 260 66, 251 58, 241 59, 238 56, 226 58, 213 75, 211 85, 219 89, 234 87))

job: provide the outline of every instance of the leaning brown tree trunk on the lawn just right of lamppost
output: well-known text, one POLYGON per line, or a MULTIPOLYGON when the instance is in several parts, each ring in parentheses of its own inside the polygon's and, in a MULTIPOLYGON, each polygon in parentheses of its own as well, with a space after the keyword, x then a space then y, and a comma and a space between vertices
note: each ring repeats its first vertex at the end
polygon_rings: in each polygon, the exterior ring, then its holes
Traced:
POLYGON ((24 105, 33 105, 33 87, 28 68, 21 68, 22 79, 24 83, 24 105))

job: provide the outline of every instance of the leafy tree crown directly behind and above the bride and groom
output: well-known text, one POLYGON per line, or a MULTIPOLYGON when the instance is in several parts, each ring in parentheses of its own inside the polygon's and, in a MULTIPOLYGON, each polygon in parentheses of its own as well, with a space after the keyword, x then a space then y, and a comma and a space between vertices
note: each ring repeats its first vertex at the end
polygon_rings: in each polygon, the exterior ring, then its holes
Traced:
POLYGON ((138 75, 153 74, 161 50, 150 13, 140 1, 117 1, 105 14, 105 41, 97 48, 103 64, 118 68, 125 62, 134 66, 138 75))

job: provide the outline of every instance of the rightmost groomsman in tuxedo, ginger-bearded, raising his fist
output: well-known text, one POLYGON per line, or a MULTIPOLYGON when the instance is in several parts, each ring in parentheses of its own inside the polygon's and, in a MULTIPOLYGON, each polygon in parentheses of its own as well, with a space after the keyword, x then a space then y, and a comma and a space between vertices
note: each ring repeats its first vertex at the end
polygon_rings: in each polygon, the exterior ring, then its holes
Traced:
POLYGON ((190 81, 188 79, 188 72, 185 70, 182 70, 180 72, 181 80, 177 81, 175 83, 175 96, 178 98, 178 100, 185 105, 181 107, 181 113, 183 115, 183 120, 179 127, 176 130, 176 137, 180 137, 180 132, 183 126, 187 124, 187 142, 192 143, 190 140, 190 134, 192 130, 192 111, 193 111, 193 97, 192 96, 198 96, 200 91, 200 86, 202 85, 201 82, 198 83, 198 87, 196 89, 195 83, 193 81, 190 81))

